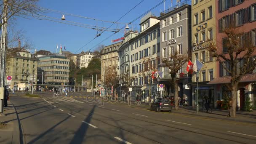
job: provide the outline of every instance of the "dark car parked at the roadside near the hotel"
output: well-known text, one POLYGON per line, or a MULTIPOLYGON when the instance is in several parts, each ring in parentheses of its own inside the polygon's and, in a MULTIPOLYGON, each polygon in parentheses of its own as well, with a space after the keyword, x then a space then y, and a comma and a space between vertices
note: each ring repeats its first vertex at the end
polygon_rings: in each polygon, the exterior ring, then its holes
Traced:
POLYGON ((172 111, 172 106, 171 106, 171 100, 167 98, 157 98, 155 101, 152 102, 151 104, 151 109, 156 110, 157 112, 160 111, 172 111))

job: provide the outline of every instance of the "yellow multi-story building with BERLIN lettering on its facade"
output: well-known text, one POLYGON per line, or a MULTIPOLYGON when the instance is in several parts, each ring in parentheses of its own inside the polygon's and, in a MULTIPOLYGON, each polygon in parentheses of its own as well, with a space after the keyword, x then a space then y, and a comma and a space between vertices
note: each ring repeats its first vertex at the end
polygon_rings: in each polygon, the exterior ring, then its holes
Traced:
MULTIPOLYGON (((216 43, 216 0, 193 0, 192 1, 192 62, 198 59, 203 67, 200 69, 198 79, 199 104, 203 96, 214 99, 214 87, 207 84, 216 77, 216 59, 207 51, 207 45, 213 41, 216 43)), ((195 105, 196 75, 192 75, 192 105, 195 105)))

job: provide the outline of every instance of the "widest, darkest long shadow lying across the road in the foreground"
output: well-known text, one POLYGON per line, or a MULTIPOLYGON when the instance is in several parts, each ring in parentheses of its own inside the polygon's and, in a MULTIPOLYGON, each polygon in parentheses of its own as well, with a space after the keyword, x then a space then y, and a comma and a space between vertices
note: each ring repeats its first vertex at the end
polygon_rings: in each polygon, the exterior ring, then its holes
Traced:
MULTIPOLYGON (((93 106, 91 111, 89 112, 88 116, 85 118, 86 123, 90 123, 93 113, 95 111, 96 105, 93 106)), ((75 132, 75 135, 73 136, 72 140, 70 141, 70 144, 81 144, 83 142, 84 136, 88 130, 88 124, 82 123, 79 127, 79 129, 75 132)))

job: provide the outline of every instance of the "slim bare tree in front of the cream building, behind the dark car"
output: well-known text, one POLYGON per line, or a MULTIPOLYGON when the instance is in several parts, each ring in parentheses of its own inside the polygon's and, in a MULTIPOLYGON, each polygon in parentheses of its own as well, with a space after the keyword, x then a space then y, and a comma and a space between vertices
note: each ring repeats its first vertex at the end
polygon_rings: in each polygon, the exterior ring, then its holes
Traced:
MULTIPOLYGON (((158 57, 156 58, 158 59, 158 57)), ((141 72, 139 73, 139 75, 142 75, 144 78, 147 77, 148 80, 148 84, 149 84, 149 107, 151 107, 151 85, 152 83, 154 83, 154 79, 152 78, 152 76, 154 77, 155 72, 157 72, 157 66, 156 63, 154 64, 152 61, 152 57, 144 57, 141 60, 142 64, 144 65, 143 69, 141 69, 141 72)))

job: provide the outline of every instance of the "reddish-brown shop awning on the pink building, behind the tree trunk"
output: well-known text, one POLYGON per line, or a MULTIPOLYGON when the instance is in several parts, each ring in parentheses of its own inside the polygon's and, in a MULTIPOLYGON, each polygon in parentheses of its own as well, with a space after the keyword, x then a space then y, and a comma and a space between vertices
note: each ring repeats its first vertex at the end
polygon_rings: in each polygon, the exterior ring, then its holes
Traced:
MULTIPOLYGON (((210 81, 207 84, 223 84, 223 83, 230 83, 231 77, 216 77, 214 80, 210 81)), ((256 74, 249 74, 244 75, 239 83, 245 83, 245 82, 256 82, 256 74)))

